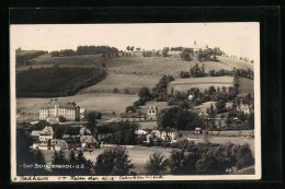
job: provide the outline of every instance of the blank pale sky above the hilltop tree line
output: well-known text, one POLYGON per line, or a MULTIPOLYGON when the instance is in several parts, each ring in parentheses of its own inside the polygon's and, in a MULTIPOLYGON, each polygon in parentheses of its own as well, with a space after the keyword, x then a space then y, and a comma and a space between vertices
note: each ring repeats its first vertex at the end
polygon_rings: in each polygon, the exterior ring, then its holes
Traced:
POLYGON ((191 47, 194 40, 228 55, 259 59, 259 23, 36 24, 11 25, 11 46, 23 50, 75 49, 109 45, 126 50, 191 47))

